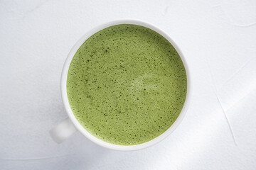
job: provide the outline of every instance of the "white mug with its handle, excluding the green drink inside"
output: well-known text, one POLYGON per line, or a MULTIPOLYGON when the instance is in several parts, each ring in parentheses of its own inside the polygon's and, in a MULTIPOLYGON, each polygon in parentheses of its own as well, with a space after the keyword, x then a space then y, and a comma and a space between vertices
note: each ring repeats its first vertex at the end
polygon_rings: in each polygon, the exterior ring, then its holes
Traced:
POLYGON ((152 26, 151 24, 146 23, 144 21, 118 20, 118 21, 112 21, 109 23, 104 23, 100 26, 97 26, 96 28, 93 28, 92 30, 87 32, 85 35, 83 35, 82 38, 80 38, 80 40, 78 40, 78 42, 75 43, 73 48, 70 50, 70 53, 68 54, 68 57, 65 60, 65 63, 63 66, 63 72, 61 75, 61 94, 62 94, 62 99, 63 99, 63 103, 65 106, 65 110, 68 113, 68 118, 63 120, 58 125, 56 125, 55 128, 53 128, 52 130, 50 130, 50 136, 53 138, 53 140, 55 142, 58 142, 58 143, 63 142, 65 139, 67 139, 68 137, 73 135, 75 132, 80 131, 82 133, 82 135, 85 135, 85 137, 87 137, 89 140, 91 140, 92 142, 95 142, 97 145, 100 145, 102 147, 107 147, 109 149, 115 149, 115 150, 119 150, 119 151, 132 151, 132 150, 143 149, 143 148, 149 147, 151 145, 156 144, 157 142, 159 142, 161 140, 164 140, 164 138, 167 137, 168 135, 170 135, 171 132, 173 132, 177 128, 177 126, 181 123, 181 121, 183 120, 183 118, 186 114, 186 110, 188 109, 188 103, 191 98, 191 76, 190 76, 190 72, 188 70, 188 65, 186 63, 186 60, 185 60, 181 50, 179 49, 178 45, 176 45, 176 43, 169 37, 169 35, 164 33, 163 30, 160 30, 159 28, 156 28, 155 26, 152 26), (186 69, 186 76, 187 76, 186 100, 185 100, 185 103, 181 110, 181 113, 178 115, 178 118, 171 125, 171 127, 168 130, 166 130, 164 133, 162 133, 158 137, 154 138, 153 140, 144 142, 139 145, 129 145, 129 146, 114 145, 114 144, 102 141, 102 140, 98 139, 97 137, 91 135, 90 132, 87 132, 87 130, 85 130, 85 128, 82 128, 82 125, 80 125, 78 120, 75 118, 75 115, 73 114, 73 111, 71 110, 70 104, 68 102, 67 87, 66 87, 67 77, 68 77, 68 69, 69 69, 70 63, 75 55, 75 52, 77 52, 78 48, 82 45, 82 43, 85 42, 85 40, 87 40, 87 38, 90 38, 90 36, 92 36, 93 34, 97 33, 98 31, 100 31, 104 28, 119 25, 119 24, 134 24, 134 25, 138 25, 138 26, 144 26, 144 27, 150 28, 151 30, 156 31, 156 33, 159 33, 160 35, 162 35, 164 38, 166 38, 166 40, 168 40, 171 43, 171 45, 174 46, 174 48, 178 52, 178 55, 181 57, 183 65, 186 69))

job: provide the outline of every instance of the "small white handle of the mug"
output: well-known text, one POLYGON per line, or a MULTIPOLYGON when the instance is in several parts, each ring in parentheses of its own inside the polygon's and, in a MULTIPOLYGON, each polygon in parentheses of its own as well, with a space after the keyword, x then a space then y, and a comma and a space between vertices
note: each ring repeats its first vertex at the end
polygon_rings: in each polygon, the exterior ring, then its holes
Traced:
POLYGON ((55 142, 61 143, 77 131, 70 118, 66 118, 50 130, 50 137, 52 137, 55 142))

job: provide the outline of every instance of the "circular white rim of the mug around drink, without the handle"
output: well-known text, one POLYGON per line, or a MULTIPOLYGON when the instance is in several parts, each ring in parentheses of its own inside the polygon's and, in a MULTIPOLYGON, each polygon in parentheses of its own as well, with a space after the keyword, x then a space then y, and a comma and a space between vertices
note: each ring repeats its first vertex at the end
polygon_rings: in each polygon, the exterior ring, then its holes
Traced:
POLYGON ((169 35, 167 35, 160 28, 152 25, 151 23, 147 23, 145 21, 139 21, 137 19, 121 19, 121 20, 115 20, 115 21, 103 23, 100 26, 97 26, 97 27, 92 28, 91 30, 87 31, 87 33, 85 33, 85 35, 82 35, 82 38, 80 38, 80 40, 78 40, 75 43, 75 45, 73 45, 73 47, 71 48, 71 50, 68 54, 68 57, 65 60, 65 63, 63 65, 63 71, 61 74, 60 89, 61 89, 61 96, 63 99, 65 110, 68 113, 68 117, 70 118, 71 122, 73 123, 73 125, 75 125, 75 128, 77 130, 79 130, 82 133, 82 135, 85 135, 85 137, 87 137, 92 142, 95 142, 97 145, 106 147, 108 149, 114 149, 114 150, 119 150, 119 151, 132 151, 132 150, 144 149, 146 147, 152 146, 152 145, 160 142, 161 140, 164 140, 164 138, 169 136, 171 134, 171 132, 174 132, 174 130, 178 127, 178 125, 181 123, 184 116, 186 115, 188 105, 191 101, 191 90, 192 90, 191 89, 191 76, 190 76, 190 72, 188 69, 188 64, 186 62, 185 57, 183 56, 183 53, 181 52, 180 48, 178 47, 178 45, 176 45, 174 40, 172 40, 171 37, 169 35), (71 110, 70 104, 68 102, 68 94, 67 94, 67 88, 66 88, 67 78, 68 78, 68 69, 70 67, 70 63, 73 60, 73 57, 75 56, 75 53, 78 51, 79 47, 85 42, 85 40, 90 38, 90 36, 92 36, 93 34, 97 33, 100 30, 103 30, 107 27, 115 26, 115 25, 119 25, 119 24, 133 24, 133 25, 137 25, 137 26, 144 26, 144 27, 154 30, 154 31, 156 31, 156 33, 159 33, 160 35, 162 35, 164 38, 166 38, 166 40, 168 40, 171 43, 171 45, 174 46, 175 50, 178 52, 178 55, 181 57, 183 66, 185 67, 185 70, 186 70, 186 78, 187 78, 186 98, 185 98, 185 102, 183 104, 183 108, 181 109, 181 112, 178 115, 178 118, 176 118, 174 123, 161 135, 159 135, 158 137, 155 137, 153 140, 149 140, 148 142, 144 142, 139 145, 114 145, 109 142, 100 140, 99 138, 90 134, 90 132, 85 130, 85 128, 83 128, 82 125, 80 125, 78 120, 75 118, 75 115, 73 114, 73 111, 71 110))

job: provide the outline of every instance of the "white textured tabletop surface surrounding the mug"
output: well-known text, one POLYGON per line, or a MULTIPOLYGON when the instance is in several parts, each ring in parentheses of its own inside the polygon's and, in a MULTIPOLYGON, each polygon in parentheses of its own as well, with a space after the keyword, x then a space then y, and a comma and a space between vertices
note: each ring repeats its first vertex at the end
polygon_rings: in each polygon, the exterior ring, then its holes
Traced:
POLYGON ((256 169, 256 1, 0 1, 0 169, 256 169), (107 21, 166 31, 193 80, 186 118, 136 152, 48 131, 67 117, 60 74, 71 47, 107 21))

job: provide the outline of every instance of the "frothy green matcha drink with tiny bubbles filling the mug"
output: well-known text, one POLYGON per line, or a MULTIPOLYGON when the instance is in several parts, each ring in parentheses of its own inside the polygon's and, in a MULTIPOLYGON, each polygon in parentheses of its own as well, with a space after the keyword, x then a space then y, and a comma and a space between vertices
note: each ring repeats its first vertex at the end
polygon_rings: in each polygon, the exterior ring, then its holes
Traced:
POLYGON ((158 137, 186 98, 186 71, 171 43, 135 25, 105 28, 88 38, 68 70, 70 107, 85 130, 115 145, 158 137))

